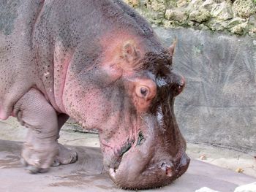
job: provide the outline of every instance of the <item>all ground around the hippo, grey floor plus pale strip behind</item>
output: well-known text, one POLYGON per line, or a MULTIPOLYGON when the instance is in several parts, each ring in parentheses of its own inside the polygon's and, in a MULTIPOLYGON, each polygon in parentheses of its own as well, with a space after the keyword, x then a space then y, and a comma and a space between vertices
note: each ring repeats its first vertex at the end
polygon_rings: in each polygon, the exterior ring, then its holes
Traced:
MULTIPOLYGON (((0 129, 0 139, 3 140, 23 142, 26 137, 26 128, 19 126, 13 119, 0 121, 0 129)), ((30 175, 24 172, 19 164, 21 144, 1 141, 0 191, 22 191, 22 185, 26 185, 26 190, 24 188, 23 191, 120 191, 106 174, 101 174, 102 157, 99 149, 89 148, 99 147, 97 134, 81 134, 70 131, 66 126, 61 130, 59 142, 64 145, 81 146, 76 149, 80 157, 85 158, 80 158, 78 163, 72 165, 52 168, 47 174, 30 175), (92 167, 90 161, 97 161, 97 167, 92 167)), ((173 185, 157 191, 190 192, 206 186, 227 192, 234 191, 237 185, 256 180, 256 159, 253 153, 195 144, 188 144, 187 153, 194 158, 188 172, 173 185)))

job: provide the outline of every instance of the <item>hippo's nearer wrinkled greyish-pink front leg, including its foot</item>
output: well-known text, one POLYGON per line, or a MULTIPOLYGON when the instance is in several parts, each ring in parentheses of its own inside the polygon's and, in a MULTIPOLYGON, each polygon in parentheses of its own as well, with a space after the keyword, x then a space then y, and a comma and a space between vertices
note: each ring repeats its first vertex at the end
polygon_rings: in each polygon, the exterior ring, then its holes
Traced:
MULTIPOLYGON (((56 111, 40 91, 31 88, 15 104, 14 112, 20 123, 29 128, 21 154, 24 164, 31 173, 48 171, 61 154, 61 146, 57 142, 59 118, 56 111)), ((76 158, 76 153, 72 154, 76 158)))

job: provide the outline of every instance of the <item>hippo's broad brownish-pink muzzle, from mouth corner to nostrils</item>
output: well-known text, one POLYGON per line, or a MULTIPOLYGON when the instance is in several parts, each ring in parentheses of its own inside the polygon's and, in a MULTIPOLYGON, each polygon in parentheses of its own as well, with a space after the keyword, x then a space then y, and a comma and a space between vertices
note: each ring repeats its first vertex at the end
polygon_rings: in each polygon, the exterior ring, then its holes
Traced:
MULTIPOLYGON (((169 113, 172 110, 169 101, 166 101, 162 114, 157 117, 140 117, 143 119, 143 126, 140 126, 135 140, 129 139, 133 141, 128 142, 129 147, 120 147, 126 150, 121 150, 124 153, 118 153, 118 157, 114 158, 114 162, 118 164, 105 161, 111 179, 119 187, 162 187, 187 171, 190 159, 185 153, 186 142, 178 130, 175 117, 169 113)), ((105 156, 108 157, 108 153, 105 156)))

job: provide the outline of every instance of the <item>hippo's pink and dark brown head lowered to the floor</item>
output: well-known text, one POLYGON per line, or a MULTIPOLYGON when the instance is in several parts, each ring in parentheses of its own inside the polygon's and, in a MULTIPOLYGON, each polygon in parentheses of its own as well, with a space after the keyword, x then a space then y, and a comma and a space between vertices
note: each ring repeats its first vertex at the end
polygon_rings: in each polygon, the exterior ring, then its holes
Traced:
POLYGON ((65 110, 99 130, 105 169, 121 188, 167 185, 189 165, 173 112, 185 85, 171 71, 174 48, 142 44, 102 41, 94 65, 69 66, 64 88, 65 110))

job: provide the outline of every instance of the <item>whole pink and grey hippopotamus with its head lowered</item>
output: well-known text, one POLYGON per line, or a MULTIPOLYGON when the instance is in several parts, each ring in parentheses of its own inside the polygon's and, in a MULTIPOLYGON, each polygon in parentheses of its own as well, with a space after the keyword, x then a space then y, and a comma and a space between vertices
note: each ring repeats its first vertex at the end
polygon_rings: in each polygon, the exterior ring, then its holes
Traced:
POLYGON ((186 172, 175 46, 137 12, 121 0, 5 0, 0 13, 0 119, 28 128, 29 172, 77 160, 58 143, 69 117, 97 128, 105 171, 121 188, 155 188, 186 172))

